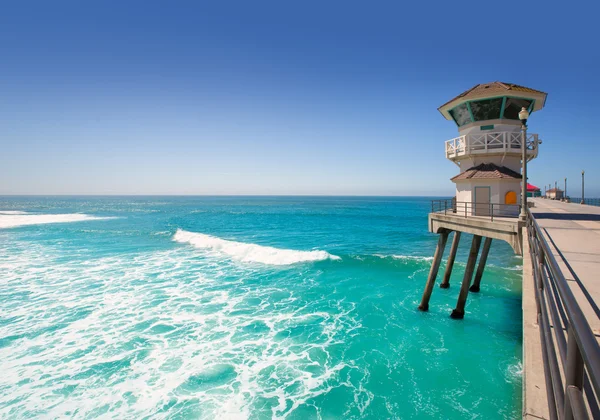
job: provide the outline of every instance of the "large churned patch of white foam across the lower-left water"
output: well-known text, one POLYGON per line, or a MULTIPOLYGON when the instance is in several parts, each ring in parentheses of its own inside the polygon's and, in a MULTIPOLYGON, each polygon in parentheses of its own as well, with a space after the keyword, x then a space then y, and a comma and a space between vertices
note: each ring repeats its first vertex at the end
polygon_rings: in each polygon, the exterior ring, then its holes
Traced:
POLYGON ((0 418, 282 419, 336 387, 373 398, 353 362, 330 353, 360 328, 345 299, 248 288, 230 278, 247 267, 198 264, 185 247, 76 261, 8 246, 0 418), (299 330, 304 339, 290 336, 299 330))

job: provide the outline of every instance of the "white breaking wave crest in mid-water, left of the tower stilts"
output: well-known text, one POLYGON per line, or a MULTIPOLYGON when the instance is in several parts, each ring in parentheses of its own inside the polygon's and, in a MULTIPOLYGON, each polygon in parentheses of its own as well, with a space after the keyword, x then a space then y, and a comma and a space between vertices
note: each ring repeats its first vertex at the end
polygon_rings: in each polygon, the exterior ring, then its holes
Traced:
POLYGON ((326 251, 296 251, 279 249, 251 243, 228 241, 203 233, 188 232, 178 229, 173 239, 177 242, 189 243, 199 249, 207 249, 226 254, 243 262, 258 262, 269 265, 289 265, 300 262, 339 260, 340 257, 326 251))

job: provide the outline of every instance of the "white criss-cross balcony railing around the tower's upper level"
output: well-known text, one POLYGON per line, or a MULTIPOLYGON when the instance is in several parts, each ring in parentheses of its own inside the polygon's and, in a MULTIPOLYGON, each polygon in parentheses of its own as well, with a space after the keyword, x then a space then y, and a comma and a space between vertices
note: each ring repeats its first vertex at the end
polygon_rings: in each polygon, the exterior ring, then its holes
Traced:
MULTIPOLYGON (((526 145, 529 159, 537 156, 538 144, 537 134, 527 134, 526 145)), ((448 159, 481 153, 521 153, 521 133, 503 131, 466 134, 446 141, 446 158, 448 159)))

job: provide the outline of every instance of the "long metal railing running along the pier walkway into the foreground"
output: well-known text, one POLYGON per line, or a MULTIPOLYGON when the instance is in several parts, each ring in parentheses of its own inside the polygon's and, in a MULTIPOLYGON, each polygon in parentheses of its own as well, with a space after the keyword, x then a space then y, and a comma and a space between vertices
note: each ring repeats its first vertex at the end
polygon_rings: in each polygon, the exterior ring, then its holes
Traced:
POLYGON ((600 418, 600 346, 543 232, 527 213, 550 418, 600 418))

